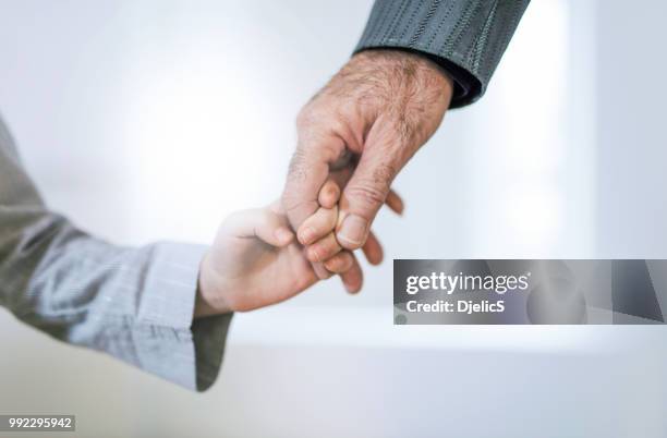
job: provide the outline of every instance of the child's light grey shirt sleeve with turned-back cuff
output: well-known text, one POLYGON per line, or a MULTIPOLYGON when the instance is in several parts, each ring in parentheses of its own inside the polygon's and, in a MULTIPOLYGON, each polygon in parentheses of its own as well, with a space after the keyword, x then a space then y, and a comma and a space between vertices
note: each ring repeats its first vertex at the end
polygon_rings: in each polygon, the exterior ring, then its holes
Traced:
POLYGON ((193 321, 205 246, 120 247, 49 211, 0 120, 0 305, 62 341, 192 390, 215 381, 231 314, 193 321))

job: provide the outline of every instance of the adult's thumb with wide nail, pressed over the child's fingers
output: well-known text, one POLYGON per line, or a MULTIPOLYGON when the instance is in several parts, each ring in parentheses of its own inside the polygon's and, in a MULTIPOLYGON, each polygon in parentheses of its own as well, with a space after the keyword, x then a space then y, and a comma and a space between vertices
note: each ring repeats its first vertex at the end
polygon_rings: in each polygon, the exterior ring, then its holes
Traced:
POLYGON ((347 250, 366 243, 371 223, 391 188, 398 172, 390 157, 379 150, 364 150, 340 199, 340 216, 336 239, 347 250))

